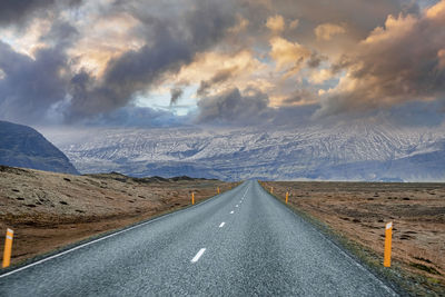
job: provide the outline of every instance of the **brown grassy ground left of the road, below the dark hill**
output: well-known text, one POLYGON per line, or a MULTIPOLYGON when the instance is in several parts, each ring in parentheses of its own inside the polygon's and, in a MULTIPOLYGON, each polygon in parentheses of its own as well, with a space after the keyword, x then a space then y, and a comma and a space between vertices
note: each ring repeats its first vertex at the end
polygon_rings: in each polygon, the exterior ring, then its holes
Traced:
MULTIPOLYGON (((71 176, 0 166, 0 249, 14 230, 11 264, 191 204, 235 184, 119 174, 71 176)), ((2 256, 2 253, 1 253, 2 256)))

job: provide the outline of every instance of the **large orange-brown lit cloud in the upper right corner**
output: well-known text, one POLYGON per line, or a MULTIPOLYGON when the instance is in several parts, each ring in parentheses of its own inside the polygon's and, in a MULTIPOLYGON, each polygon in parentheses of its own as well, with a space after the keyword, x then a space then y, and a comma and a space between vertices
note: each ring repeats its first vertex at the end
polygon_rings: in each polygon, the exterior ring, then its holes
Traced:
POLYGON ((389 16, 343 59, 347 72, 326 93, 318 115, 445 98, 444 3, 419 17, 389 16))

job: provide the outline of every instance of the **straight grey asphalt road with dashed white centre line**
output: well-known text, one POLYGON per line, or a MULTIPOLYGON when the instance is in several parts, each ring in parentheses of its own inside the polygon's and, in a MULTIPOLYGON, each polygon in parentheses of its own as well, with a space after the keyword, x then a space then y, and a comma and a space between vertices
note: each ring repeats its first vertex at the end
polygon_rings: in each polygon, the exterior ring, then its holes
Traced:
POLYGON ((0 296, 393 296, 257 181, 0 276, 0 296))

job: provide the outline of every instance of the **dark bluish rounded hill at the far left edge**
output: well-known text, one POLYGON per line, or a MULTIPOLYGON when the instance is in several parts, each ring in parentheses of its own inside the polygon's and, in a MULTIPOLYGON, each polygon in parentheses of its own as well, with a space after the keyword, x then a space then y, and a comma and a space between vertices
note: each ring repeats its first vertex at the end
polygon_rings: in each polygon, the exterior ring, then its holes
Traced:
POLYGON ((28 126, 0 121, 0 165, 78 175, 57 147, 28 126))

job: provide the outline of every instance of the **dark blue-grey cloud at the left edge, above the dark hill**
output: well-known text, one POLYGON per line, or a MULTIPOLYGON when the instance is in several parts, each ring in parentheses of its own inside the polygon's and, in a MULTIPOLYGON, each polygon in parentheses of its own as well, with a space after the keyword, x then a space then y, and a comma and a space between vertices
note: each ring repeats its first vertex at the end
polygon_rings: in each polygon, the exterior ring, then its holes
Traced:
POLYGON ((31 59, 0 41, 0 117, 21 122, 42 121, 67 92, 67 58, 57 49, 41 49, 31 59))

